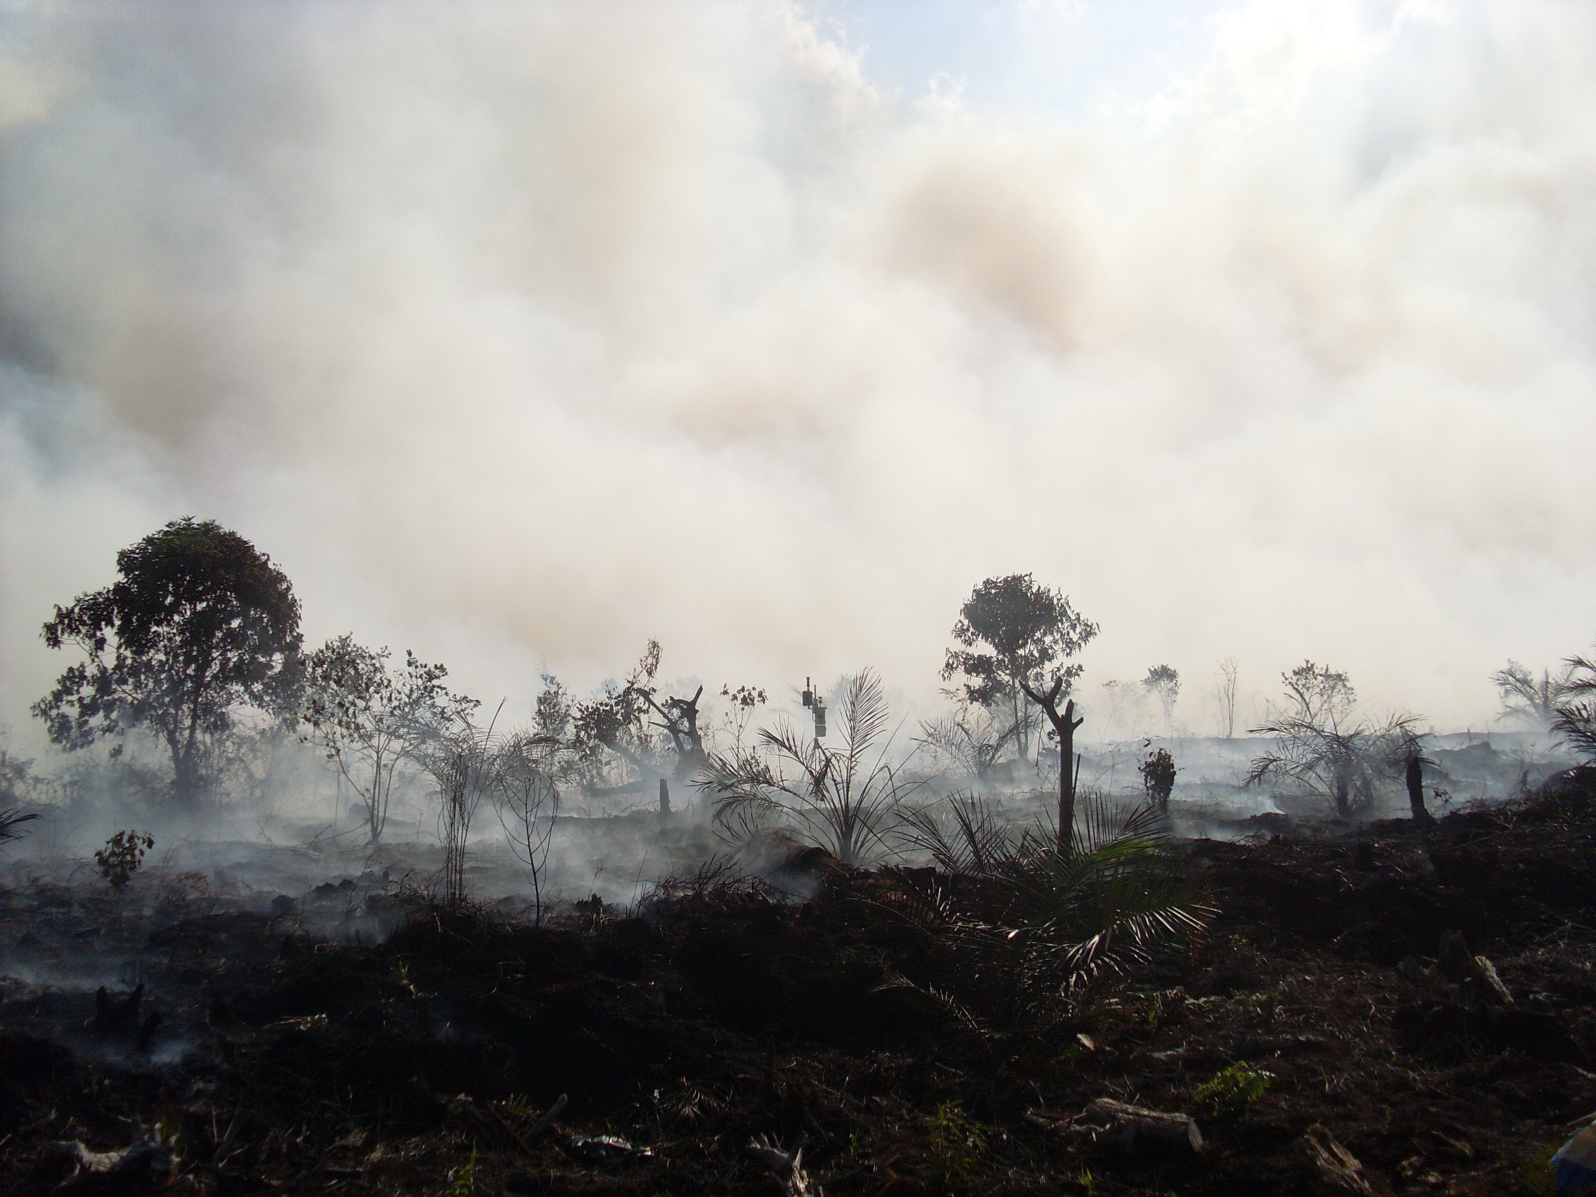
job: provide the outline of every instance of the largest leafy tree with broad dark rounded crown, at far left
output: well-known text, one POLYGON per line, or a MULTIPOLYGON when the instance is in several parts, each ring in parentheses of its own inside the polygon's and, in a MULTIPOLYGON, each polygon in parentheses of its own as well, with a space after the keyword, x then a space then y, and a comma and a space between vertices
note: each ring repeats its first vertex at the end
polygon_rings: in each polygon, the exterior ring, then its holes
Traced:
POLYGON ((46 645, 86 659, 34 713, 67 750, 155 734, 171 752, 172 796, 193 806, 239 710, 289 709, 298 600, 270 557, 215 520, 168 523, 118 552, 117 573, 45 624, 46 645))

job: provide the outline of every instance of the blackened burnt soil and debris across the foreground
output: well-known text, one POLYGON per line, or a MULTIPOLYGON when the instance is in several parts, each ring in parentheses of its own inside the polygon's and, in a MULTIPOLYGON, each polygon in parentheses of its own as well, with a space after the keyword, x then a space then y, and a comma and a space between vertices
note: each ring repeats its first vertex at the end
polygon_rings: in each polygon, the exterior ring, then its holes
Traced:
POLYGON ((934 986, 953 946, 895 913, 892 873, 830 870, 806 903, 705 881, 544 927, 373 894, 362 913, 399 924, 375 946, 295 930, 286 902, 177 887, 140 919, 5 892, 0 972, 134 948, 145 991, 97 1012, 0 980, 0 1192, 62 1191, 51 1143, 161 1136, 171 1175, 64 1191, 779 1194, 766 1136, 833 1197, 1307 1194, 1329 1191, 1315 1124, 1373 1192, 1547 1192, 1596 1114, 1596 774, 1430 828, 1290 832, 1181 846, 1218 910, 1199 942, 993 1033, 894 983, 934 986), (1438 975, 1444 930, 1510 1005, 1438 975), (1235 1065, 1267 1087, 1205 1096, 1235 1065), (1207 1151, 1060 1128, 1096 1098, 1194 1114, 1207 1151))

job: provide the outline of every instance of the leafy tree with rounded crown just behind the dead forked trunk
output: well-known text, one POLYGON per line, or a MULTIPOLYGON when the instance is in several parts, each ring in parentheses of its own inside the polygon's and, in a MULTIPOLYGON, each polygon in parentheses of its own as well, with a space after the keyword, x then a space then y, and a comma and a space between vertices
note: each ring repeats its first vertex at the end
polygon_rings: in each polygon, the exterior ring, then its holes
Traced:
POLYGON ((1098 634, 1098 626, 1069 605, 1063 591, 1041 586, 1028 573, 988 578, 977 586, 953 626, 959 648, 950 648, 943 680, 961 678, 961 694, 1001 715, 1015 729, 1028 757, 1034 712, 1025 688, 1045 691, 1055 681, 1065 694, 1082 666, 1065 664, 1098 634))

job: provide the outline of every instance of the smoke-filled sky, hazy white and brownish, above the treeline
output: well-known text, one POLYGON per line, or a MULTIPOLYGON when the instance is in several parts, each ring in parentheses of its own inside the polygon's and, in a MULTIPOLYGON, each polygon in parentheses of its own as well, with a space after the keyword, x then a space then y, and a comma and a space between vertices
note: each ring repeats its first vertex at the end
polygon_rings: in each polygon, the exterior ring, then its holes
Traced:
POLYGON ((1211 729, 1596 637, 1596 10, 0 5, 0 721, 169 519, 523 709, 1029 571, 1211 729), (1243 710, 1246 705, 1243 702, 1243 710))

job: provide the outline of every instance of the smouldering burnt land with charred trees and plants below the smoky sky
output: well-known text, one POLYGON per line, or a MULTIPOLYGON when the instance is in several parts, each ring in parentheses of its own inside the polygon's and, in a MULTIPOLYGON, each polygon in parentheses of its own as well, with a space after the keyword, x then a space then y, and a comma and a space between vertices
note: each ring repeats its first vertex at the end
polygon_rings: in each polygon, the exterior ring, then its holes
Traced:
POLYGON ((658 642, 520 723, 302 653, 214 523, 118 568, 45 626, 70 755, 0 755, 0 1194, 1507 1197, 1596 1109, 1582 658, 1495 681, 1583 763, 1468 809, 1489 742, 1304 662, 1235 749, 1267 809, 1197 825, 1194 741, 1085 739, 1179 674, 1088 701, 1031 575, 900 741, 870 669, 782 710, 658 642))

